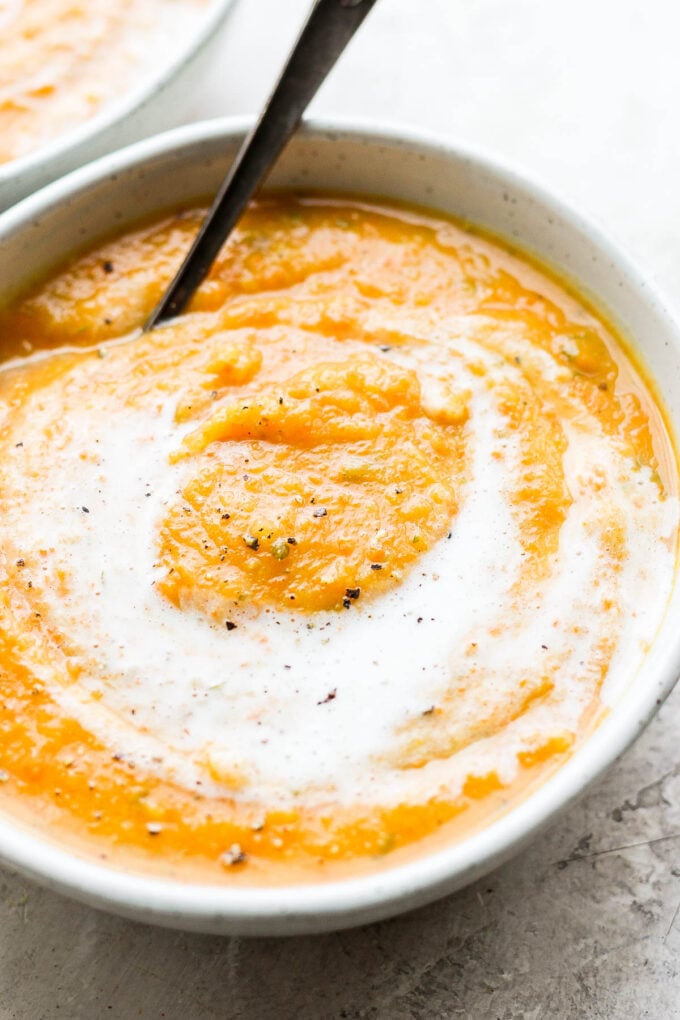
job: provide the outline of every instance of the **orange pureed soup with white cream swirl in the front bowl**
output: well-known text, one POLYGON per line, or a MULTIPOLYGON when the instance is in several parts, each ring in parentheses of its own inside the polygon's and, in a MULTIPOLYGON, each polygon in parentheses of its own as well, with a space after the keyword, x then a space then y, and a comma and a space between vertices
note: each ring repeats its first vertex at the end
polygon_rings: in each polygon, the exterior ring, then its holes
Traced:
POLYGON ((0 804, 114 866, 385 867, 544 781, 644 659, 677 467, 608 325, 374 202, 187 212, 0 317, 0 804))

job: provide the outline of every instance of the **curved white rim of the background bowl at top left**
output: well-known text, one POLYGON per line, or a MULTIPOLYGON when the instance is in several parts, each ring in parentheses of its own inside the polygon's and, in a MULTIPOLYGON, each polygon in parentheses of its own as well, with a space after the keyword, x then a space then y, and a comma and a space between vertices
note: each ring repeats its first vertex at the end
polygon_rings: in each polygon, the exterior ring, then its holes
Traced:
POLYGON ((23 156, 0 163, 0 189, 20 181, 24 175, 47 169, 53 162, 63 159, 79 146, 94 143, 108 131, 114 130, 127 117, 133 116, 158 93, 162 93, 180 68, 200 52, 217 30, 236 0, 209 0, 209 6, 172 55, 161 60, 160 66, 151 74, 142 74, 138 84, 124 90, 119 98, 102 105, 94 116, 68 128, 46 145, 33 149, 23 156))

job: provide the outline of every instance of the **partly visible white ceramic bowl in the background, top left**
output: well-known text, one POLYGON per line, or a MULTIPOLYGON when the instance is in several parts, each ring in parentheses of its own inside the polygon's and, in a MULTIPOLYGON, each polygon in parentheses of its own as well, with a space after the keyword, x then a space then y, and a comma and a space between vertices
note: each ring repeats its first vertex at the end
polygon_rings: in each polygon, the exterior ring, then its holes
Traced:
POLYGON ((0 211, 76 166, 122 145, 181 123, 197 85, 219 48, 233 0, 210 0, 195 28, 167 56, 89 120, 19 159, 0 164, 0 211))

